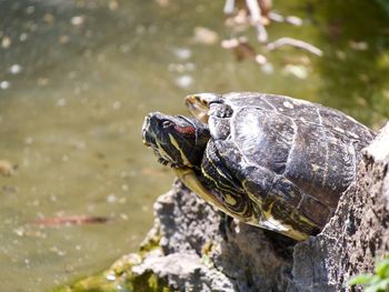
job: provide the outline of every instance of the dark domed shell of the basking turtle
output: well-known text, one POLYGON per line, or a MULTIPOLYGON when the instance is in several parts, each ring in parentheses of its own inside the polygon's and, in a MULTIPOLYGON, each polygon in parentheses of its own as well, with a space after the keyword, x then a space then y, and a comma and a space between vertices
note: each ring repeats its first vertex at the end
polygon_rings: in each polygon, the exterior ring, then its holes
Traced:
POLYGON ((215 173, 239 181, 258 225, 286 234, 321 230, 375 133, 340 111, 282 95, 239 92, 207 102, 212 138, 202 172, 220 165, 215 173))

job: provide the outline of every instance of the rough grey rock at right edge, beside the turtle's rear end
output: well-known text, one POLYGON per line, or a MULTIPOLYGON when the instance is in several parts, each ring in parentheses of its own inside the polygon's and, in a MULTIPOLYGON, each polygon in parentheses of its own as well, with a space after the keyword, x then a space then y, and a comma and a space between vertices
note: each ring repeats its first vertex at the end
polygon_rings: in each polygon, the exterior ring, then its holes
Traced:
POLYGON ((296 245, 289 291, 340 291, 389 253, 389 123, 363 150, 356 184, 316 238, 296 245))

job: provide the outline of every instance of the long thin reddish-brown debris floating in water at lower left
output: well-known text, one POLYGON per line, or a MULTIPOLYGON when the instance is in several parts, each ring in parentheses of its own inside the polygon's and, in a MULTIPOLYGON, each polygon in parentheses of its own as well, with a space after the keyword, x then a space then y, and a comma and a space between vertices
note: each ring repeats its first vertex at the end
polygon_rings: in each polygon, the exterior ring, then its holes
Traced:
POLYGON ((33 221, 32 224, 41 226, 83 225, 107 223, 109 220, 108 217, 69 215, 42 218, 33 221))

